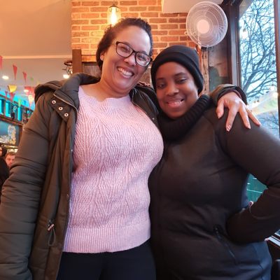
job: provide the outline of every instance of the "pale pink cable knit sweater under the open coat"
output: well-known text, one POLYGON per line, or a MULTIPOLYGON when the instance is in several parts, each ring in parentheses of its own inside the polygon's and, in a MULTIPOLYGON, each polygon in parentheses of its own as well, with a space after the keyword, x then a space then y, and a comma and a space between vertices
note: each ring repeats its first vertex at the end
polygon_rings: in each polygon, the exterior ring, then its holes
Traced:
POLYGON ((150 237, 148 176, 162 156, 162 137, 129 96, 98 102, 81 87, 78 94, 64 251, 134 248, 150 237))

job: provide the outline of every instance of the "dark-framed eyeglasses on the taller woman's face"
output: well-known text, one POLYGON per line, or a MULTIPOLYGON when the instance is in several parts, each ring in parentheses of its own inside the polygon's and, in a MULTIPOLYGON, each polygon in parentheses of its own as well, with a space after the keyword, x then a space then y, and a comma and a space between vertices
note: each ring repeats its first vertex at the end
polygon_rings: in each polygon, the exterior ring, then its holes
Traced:
POLYGON ((121 57, 130 57, 134 53, 135 62, 140 66, 146 67, 153 60, 152 57, 146 55, 144 52, 137 52, 130 45, 116 41, 116 52, 121 57))

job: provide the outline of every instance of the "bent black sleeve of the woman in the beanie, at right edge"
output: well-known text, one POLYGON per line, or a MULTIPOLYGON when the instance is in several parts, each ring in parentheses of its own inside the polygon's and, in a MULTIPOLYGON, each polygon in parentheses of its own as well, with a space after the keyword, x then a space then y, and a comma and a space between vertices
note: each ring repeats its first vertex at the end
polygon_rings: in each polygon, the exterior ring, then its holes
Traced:
POLYGON ((246 129, 239 116, 230 132, 223 126, 219 132, 230 158, 267 186, 257 202, 228 219, 228 235, 237 242, 262 241, 280 228, 280 140, 253 123, 246 129))

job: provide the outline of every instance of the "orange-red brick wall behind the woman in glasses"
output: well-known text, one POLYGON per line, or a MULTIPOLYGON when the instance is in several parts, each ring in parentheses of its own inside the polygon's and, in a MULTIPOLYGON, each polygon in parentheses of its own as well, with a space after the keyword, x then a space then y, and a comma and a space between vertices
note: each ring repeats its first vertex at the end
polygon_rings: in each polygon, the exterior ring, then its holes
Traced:
POLYGON ((72 0, 71 47, 81 49, 83 61, 94 62, 97 44, 107 25, 107 9, 115 3, 122 18, 143 18, 152 27, 154 57, 169 45, 195 47, 186 36, 187 13, 161 12, 161 0, 78 1, 72 0))

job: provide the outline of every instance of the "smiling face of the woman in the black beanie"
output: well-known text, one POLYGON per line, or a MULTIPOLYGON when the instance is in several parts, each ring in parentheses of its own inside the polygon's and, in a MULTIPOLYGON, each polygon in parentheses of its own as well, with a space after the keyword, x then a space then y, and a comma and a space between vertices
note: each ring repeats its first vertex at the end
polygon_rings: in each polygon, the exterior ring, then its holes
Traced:
POLYGON ((177 62, 158 67, 155 87, 160 108, 172 119, 183 116, 198 99, 193 76, 177 62))

